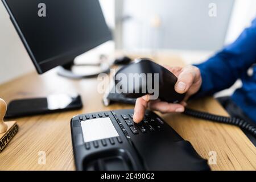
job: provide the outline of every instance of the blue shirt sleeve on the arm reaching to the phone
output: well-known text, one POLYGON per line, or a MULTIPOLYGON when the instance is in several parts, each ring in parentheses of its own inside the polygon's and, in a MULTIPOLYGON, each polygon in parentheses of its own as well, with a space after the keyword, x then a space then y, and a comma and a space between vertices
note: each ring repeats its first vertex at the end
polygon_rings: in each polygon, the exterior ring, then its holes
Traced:
POLYGON ((256 60, 256 18, 237 40, 201 64, 202 85, 194 97, 212 95, 229 88, 256 60))

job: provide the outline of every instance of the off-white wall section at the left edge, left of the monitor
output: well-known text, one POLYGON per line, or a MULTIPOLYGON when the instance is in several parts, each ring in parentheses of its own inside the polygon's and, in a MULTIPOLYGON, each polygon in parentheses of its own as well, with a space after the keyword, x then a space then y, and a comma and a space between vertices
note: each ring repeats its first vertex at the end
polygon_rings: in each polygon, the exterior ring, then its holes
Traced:
POLYGON ((0 2, 0 84, 34 69, 9 14, 0 2))

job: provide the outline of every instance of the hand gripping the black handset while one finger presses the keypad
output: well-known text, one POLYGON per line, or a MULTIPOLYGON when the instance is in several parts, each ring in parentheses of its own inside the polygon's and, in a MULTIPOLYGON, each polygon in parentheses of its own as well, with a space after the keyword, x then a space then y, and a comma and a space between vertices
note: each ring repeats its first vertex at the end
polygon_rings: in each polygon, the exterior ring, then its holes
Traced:
POLYGON ((166 68, 177 77, 175 90, 177 93, 186 93, 184 100, 179 104, 172 104, 160 100, 150 100, 149 95, 137 98, 134 108, 134 122, 139 123, 142 121, 147 107, 161 113, 182 113, 187 105, 185 101, 200 89, 202 78, 199 68, 193 65, 188 65, 184 68, 168 66, 166 68))

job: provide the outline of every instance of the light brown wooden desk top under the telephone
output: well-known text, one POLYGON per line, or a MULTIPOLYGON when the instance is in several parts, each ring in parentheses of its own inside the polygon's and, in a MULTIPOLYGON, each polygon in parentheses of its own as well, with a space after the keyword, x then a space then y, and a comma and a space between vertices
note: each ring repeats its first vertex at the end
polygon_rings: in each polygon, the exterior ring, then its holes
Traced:
MULTIPOLYGON (((160 64, 182 65, 179 57, 162 55, 153 57, 160 64)), ((36 115, 16 119, 19 132, 0 153, 0 170, 74 170, 70 119, 73 115, 94 111, 129 109, 133 106, 102 105, 102 94, 97 92, 96 78, 68 80, 50 71, 42 76, 35 72, 0 85, 0 97, 7 102, 16 98, 47 96, 56 93, 78 92, 84 107, 65 113, 36 115), (38 164, 39 151, 46 152, 46 164, 38 164)), ((213 98, 205 98, 189 104, 194 109, 227 115, 213 98)), ((235 126, 213 123, 187 117, 182 114, 166 114, 162 117, 195 150, 208 159, 210 151, 217 152, 217 164, 213 170, 255 170, 256 150, 242 131, 235 126)))

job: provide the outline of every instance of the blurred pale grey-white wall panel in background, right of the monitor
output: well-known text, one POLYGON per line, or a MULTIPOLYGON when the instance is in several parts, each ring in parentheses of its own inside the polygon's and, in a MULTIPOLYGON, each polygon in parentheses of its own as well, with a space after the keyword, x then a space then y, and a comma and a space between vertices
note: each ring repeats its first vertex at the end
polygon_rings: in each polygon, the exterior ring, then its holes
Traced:
MULTIPOLYGON (((117 0, 118 1, 118 0, 117 0)), ((225 40, 234 0, 123 0, 123 48, 216 51, 225 40), (209 16, 215 3, 217 16, 209 16)))

